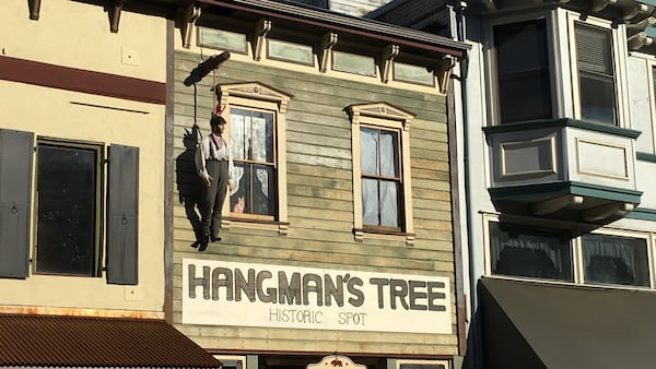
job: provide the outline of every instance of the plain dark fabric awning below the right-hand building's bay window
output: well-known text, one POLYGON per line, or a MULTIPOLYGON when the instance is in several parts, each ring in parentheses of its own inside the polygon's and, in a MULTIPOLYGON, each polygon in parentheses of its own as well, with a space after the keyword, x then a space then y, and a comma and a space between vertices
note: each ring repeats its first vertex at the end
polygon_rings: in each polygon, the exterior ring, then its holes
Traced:
POLYGON ((656 366, 656 294, 482 278, 487 369, 656 366))

